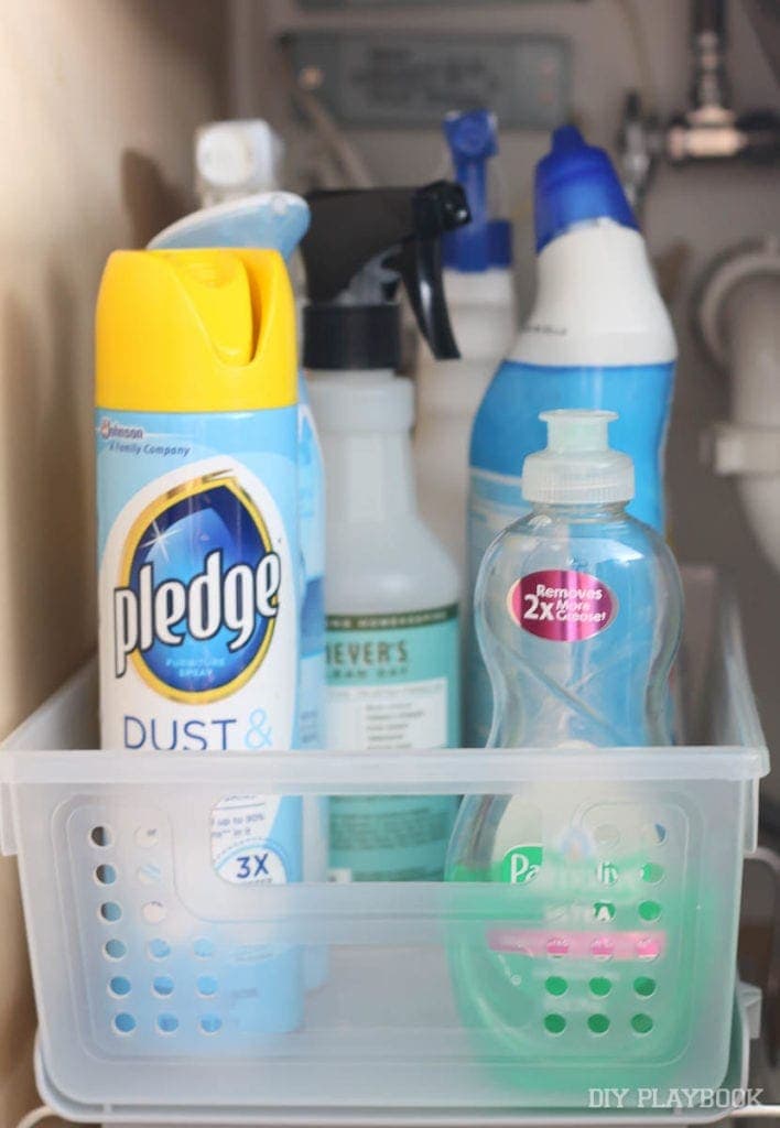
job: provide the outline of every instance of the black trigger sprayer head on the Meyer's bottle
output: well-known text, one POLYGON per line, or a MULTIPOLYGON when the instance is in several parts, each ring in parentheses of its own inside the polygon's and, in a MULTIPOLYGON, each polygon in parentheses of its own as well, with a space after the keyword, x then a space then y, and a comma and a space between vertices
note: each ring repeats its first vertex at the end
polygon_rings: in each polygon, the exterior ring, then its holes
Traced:
POLYGON ((401 361, 402 284, 438 360, 459 352, 445 301, 441 236, 471 220, 459 184, 313 192, 301 243, 309 303, 304 364, 319 371, 393 369, 401 361))

